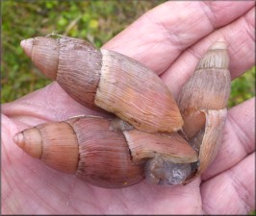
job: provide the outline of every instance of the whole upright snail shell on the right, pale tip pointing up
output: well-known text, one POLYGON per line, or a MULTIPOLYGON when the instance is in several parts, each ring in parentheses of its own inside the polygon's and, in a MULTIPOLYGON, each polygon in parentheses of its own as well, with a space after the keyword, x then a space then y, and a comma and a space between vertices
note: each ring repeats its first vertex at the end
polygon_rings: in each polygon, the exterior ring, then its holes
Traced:
POLYGON ((192 77, 179 93, 183 134, 199 152, 197 169, 186 182, 203 173, 218 154, 231 88, 228 65, 226 43, 215 42, 199 60, 192 77))

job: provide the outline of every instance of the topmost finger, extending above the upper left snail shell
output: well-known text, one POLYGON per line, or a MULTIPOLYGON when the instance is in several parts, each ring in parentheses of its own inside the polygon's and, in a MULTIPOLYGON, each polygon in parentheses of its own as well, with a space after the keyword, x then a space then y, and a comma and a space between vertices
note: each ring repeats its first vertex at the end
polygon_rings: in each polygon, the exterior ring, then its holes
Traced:
POLYGON ((142 15, 104 48, 140 60, 161 74, 183 50, 253 6, 253 2, 166 2, 142 15))

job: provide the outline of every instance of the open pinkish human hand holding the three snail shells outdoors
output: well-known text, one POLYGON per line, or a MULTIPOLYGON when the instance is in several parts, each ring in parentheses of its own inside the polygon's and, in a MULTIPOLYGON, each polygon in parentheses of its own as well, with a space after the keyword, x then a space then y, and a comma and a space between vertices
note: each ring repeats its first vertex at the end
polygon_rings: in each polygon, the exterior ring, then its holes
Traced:
MULTIPOLYGON (((233 79, 253 66, 254 14, 254 1, 166 2, 104 48, 140 60, 161 74, 177 97, 198 58, 218 38, 228 43, 233 79)), ((79 105, 53 82, 2 106, 2 213, 246 214, 255 209, 254 110, 255 98, 228 110, 218 156, 201 178, 185 186, 142 181, 105 189, 54 171, 13 143, 15 132, 39 123, 100 114, 79 105)))

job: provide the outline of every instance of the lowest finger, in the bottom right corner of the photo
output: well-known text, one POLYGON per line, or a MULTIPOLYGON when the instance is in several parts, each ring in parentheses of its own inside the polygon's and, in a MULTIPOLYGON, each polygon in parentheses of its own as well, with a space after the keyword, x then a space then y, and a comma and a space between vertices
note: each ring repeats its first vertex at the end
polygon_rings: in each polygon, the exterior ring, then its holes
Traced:
POLYGON ((255 209, 255 153, 201 184, 206 214, 247 214, 255 209))

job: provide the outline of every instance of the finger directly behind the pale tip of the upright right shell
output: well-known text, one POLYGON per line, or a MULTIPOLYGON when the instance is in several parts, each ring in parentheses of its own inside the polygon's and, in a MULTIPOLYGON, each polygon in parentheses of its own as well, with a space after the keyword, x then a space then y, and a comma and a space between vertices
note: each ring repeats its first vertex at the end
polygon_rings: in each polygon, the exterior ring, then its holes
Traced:
POLYGON ((254 14, 255 8, 246 12, 230 25, 218 29, 213 34, 201 39, 182 53, 180 58, 162 76, 162 79, 175 97, 178 95, 181 86, 191 76, 198 59, 218 38, 223 38, 228 43, 229 70, 232 79, 242 75, 243 72, 255 64, 254 14))

